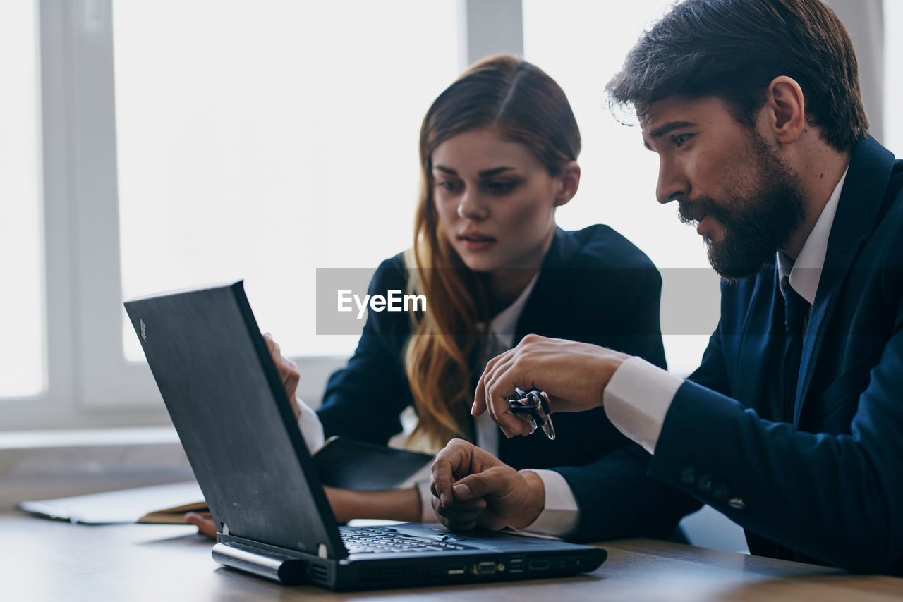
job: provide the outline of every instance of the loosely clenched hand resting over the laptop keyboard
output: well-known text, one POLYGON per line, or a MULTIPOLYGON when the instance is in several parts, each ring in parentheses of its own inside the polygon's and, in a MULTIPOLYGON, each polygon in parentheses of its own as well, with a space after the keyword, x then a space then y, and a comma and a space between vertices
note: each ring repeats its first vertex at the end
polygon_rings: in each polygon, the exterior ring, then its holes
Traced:
POLYGON ((487 451, 454 439, 433 462, 433 509, 450 529, 523 528, 545 506, 534 472, 517 472, 487 451))

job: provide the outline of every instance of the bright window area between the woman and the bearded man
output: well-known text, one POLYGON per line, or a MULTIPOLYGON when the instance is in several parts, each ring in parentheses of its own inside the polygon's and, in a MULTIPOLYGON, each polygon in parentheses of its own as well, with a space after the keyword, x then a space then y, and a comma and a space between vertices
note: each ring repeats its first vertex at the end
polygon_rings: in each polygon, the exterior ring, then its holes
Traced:
POLYGON ((658 266, 668 367, 686 374, 699 365, 718 324, 719 279, 702 239, 677 220, 675 204, 656 202, 656 154, 643 146, 638 127, 611 116, 605 95, 647 24, 672 4, 635 0, 612 13, 594 0, 524 0, 524 55, 564 89, 582 134, 580 190, 559 210, 558 223, 569 229, 608 224, 658 266))

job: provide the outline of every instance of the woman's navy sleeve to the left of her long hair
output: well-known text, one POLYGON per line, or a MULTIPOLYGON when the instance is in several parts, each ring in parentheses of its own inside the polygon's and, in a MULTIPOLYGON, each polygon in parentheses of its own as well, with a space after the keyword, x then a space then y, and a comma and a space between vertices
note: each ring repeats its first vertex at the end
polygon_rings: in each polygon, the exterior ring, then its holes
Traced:
MULTIPOLYGON (((386 260, 370 282, 370 294, 405 288, 400 257, 386 260)), ((400 414, 412 403, 403 350, 407 313, 369 311, 348 366, 330 376, 317 414, 326 438, 334 435, 386 445, 402 431, 400 414)))

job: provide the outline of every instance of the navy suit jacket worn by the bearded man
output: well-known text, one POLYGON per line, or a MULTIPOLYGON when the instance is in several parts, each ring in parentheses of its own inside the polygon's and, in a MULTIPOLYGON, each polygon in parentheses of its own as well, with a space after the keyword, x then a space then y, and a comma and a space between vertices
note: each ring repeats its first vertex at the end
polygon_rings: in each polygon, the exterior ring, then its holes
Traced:
POLYGON ((649 474, 746 529, 756 554, 903 574, 903 162, 854 149, 781 421, 773 265, 721 287, 721 322, 675 395, 649 474))

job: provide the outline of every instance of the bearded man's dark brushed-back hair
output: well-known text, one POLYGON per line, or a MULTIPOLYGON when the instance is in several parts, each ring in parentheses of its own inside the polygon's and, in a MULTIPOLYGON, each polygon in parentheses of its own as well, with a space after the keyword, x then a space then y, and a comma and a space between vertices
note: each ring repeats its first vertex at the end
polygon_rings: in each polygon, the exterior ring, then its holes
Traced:
POLYGON ((629 52, 606 86, 612 111, 642 117, 667 97, 719 97, 752 127, 778 76, 796 79, 806 118, 841 152, 868 134, 856 52, 837 15, 820 0, 687 0, 629 52))

